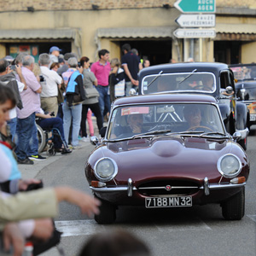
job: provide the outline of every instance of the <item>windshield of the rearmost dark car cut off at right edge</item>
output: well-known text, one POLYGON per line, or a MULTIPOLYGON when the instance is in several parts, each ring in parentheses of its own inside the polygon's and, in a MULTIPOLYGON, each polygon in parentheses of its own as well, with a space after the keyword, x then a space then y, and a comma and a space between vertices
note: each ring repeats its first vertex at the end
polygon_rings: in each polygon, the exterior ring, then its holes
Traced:
POLYGON ((234 78, 238 81, 256 79, 256 65, 241 65, 236 67, 230 67, 234 73, 234 78))

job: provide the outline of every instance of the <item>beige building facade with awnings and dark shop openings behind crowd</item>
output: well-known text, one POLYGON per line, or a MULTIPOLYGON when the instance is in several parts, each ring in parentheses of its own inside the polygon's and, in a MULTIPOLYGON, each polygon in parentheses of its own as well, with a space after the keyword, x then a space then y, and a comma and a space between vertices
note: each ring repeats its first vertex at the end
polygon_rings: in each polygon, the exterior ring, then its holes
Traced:
MULTIPOLYGON (((201 4, 213 0, 198 0, 201 4)), ((152 64, 187 61, 249 63, 256 59, 256 1, 215 0, 215 38, 176 38, 175 0, 0 0, 0 57, 52 45, 97 60, 98 49, 119 57, 130 43, 152 64)))

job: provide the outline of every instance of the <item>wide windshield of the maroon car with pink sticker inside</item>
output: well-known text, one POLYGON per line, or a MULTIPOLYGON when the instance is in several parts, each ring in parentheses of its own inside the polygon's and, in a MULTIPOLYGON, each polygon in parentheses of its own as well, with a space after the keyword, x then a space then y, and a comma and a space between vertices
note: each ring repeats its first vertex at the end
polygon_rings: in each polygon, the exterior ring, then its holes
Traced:
POLYGON ((107 139, 170 132, 225 133, 215 105, 154 103, 114 108, 108 126, 107 139))

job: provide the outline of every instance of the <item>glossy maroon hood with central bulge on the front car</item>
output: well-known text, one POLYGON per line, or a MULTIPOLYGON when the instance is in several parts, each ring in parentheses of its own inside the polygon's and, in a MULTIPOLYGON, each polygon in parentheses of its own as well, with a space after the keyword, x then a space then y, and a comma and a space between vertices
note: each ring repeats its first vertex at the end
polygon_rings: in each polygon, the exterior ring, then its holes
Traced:
POLYGON ((156 177, 187 177, 198 181, 208 177, 218 182, 218 159, 229 153, 246 159, 240 146, 227 139, 155 137, 107 143, 96 149, 89 163, 94 166, 101 157, 115 160, 119 168, 117 183, 127 183, 128 178, 143 182, 156 177))

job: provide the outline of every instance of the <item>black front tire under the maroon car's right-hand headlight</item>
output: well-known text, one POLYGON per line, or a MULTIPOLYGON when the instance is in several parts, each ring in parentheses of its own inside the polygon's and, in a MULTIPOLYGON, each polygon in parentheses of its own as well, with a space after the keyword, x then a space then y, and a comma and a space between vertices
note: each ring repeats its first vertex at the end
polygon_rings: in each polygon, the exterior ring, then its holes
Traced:
POLYGON ((240 220, 245 211, 245 189, 232 196, 222 204, 222 215, 227 220, 240 220))

